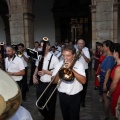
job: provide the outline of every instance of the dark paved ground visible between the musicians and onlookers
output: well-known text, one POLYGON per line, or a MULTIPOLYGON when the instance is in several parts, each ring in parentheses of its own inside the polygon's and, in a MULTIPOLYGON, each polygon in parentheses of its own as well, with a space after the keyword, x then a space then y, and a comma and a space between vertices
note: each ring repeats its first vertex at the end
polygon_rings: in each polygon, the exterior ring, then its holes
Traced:
MULTIPOLYGON (((27 94, 27 101, 23 102, 23 106, 28 109, 33 117, 33 120, 42 120, 43 117, 38 112, 35 106, 36 95, 35 86, 29 87, 29 92, 27 94)), ((99 101, 98 90, 94 90, 94 78, 91 76, 91 71, 89 72, 89 83, 86 96, 86 107, 81 107, 80 120, 102 120, 104 115, 103 102, 99 101)), ((61 110, 59 106, 59 100, 57 100, 56 105, 56 117, 55 120, 63 120, 61 115, 61 110)), ((110 120, 114 120, 111 117, 110 120)))

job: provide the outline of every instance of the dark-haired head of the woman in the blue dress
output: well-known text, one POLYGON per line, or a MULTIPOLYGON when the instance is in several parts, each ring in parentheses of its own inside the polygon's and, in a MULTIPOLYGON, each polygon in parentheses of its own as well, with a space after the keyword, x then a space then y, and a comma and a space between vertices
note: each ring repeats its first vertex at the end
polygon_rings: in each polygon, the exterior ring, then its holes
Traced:
POLYGON ((103 50, 104 52, 112 52, 114 51, 114 43, 111 40, 106 40, 103 42, 103 50))

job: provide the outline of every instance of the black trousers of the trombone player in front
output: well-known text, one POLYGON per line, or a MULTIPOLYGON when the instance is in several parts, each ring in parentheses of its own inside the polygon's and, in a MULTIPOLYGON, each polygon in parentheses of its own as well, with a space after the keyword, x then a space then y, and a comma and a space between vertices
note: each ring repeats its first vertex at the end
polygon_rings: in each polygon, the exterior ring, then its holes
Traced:
POLYGON ((75 95, 59 92, 59 101, 63 120, 79 120, 80 92, 75 95))

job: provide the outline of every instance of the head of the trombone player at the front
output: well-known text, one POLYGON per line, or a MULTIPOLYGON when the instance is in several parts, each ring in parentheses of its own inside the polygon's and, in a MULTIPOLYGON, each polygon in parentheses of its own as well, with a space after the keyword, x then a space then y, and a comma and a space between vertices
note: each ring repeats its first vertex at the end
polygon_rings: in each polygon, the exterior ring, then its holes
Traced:
POLYGON ((73 45, 66 45, 62 51, 62 55, 65 61, 71 62, 76 54, 76 49, 73 45))

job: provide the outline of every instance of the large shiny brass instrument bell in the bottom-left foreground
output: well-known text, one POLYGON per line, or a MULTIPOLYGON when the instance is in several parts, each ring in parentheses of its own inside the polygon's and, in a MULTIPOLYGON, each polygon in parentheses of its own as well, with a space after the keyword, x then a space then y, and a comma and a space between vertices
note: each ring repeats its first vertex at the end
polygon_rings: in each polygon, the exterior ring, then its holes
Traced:
POLYGON ((17 83, 0 69, 0 120, 9 119, 21 104, 21 92, 17 83))

